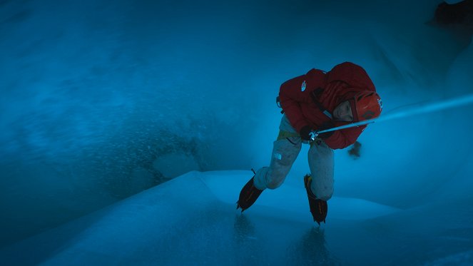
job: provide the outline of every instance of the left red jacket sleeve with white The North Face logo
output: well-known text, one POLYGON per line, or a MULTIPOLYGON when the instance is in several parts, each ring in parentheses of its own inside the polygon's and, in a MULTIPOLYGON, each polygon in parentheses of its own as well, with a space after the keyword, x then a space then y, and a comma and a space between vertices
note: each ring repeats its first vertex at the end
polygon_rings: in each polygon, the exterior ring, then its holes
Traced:
POLYGON ((307 74, 292 78, 280 86, 281 107, 297 132, 300 132, 302 127, 310 125, 302 114, 300 103, 311 102, 310 93, 316 88, 324 86, 324 83, 325 73, 312 68, 307 74))

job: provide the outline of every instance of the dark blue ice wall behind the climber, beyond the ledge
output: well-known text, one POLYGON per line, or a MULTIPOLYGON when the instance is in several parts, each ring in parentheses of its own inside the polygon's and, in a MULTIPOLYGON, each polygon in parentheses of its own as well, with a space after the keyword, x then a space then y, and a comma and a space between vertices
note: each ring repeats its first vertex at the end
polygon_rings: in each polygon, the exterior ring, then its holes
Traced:
MULTIPOLYGON (((313 67, 359 63, 385 112, 471 93, 471 46, 425 23, 437 4, 1 1, 2 241, 188 170, 267 165, 280 83, 313 67)), ((398 208, 467 195, 471 113, 371 125, 360 159, 337 151, 336 195, 398 208)))

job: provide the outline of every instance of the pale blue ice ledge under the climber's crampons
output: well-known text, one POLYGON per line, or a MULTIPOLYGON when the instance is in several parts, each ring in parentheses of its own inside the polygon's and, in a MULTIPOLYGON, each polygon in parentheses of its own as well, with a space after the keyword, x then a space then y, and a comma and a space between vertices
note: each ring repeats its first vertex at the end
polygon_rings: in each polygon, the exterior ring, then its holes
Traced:
MULTIPOLYGON (((302 180, 298 187, 266 190, 241 214, 235 199, 249 175, 190 172, 7 247, 0 257, 6 265, 472 262, 473 250, 463 248, 473 236, 472 225, 446 228, 444 221, 424 216, 423 209, 405 211, 334 198, 328 223, 317 227, 311 222, 302 180), (426 247, 437 253, 422 252, 426 247)), ((450 218, 457 217, 453 213, 450 218)))

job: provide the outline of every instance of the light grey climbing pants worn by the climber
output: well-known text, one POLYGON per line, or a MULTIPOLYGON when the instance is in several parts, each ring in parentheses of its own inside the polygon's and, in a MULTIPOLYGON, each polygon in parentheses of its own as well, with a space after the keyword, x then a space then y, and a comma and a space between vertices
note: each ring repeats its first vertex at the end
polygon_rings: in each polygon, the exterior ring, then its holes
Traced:
MULTIPOLYGON (((285 133, 288 137, 278 138, 273 143, 270 166, 256 171, 254 182, 255 187, 259 190, 265 188, 275 189, 282 185, 302 148, 300 135, 290 125, 285 115, 281 119, 279 129, 280 133, 285 133)), ((312 176, 310 186, 312 193, 321 200, 329 200, 333 195, 334 183, 333 150, 323 141, 312 143, 307 158, 309 159, 310 175, 312 176)))

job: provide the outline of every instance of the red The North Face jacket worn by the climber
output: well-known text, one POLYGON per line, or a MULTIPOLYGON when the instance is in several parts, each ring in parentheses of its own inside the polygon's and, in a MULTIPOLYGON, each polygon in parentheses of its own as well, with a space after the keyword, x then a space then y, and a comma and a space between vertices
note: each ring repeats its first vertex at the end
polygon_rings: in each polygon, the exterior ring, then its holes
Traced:
MULTIPOLYGON (((335 107, 343 101, 353 98, 359 91, 376 91, 366 71, 361 66, 350 62, 340 63, 327 73, 312 68, 305 75, 286 81, 280 87, 280 103, 297 132, 300 132, 304 126, 311 126, 312 129, 317 130, 322 123, 330 121, 310 95, 317 88, 323 89, 322 93, 317 95, 318 101, 330 113, 333 113, 335 107)), ((335 126, 351 123, 332 122, 335 126)), ((345 148, 355 143, 365 128, 366 126, 357 126, 335 131, 325 139, 325 143, 332 149, 345 148)))

